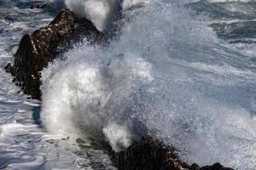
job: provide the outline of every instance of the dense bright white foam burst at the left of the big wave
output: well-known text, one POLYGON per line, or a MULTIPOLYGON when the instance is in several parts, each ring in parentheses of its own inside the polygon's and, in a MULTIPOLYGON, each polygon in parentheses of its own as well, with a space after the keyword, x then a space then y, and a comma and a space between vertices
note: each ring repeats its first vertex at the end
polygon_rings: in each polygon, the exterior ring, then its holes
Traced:
MULTIPOLYGON (((83 54, 84 50, 80 53, 83 54)), ((103 58, 102 55, 101 60, 103 58)), ((137 93, 137 88, 152 81, 151 65, 134 54, 116 56, 104 63, 98 59, 70 58, 65 64, 51 65, 53 77, 49 77, 48 71, 44 72, 43 120, 54 133, 82 134, 98 140, 103 140, 100 138, 105 133, 113 149, 119 150, 131 144, 131 125, 112 130, 119 127, 118 123, 124 124, 124 119, 130 119, 131 115, 126 115, 124 110, 132 105, 130 98, 137 93), (63 65, 67 66, 65 71, 55 74, 63 65), (52 94, 55 93, 53 100, 52 94)))

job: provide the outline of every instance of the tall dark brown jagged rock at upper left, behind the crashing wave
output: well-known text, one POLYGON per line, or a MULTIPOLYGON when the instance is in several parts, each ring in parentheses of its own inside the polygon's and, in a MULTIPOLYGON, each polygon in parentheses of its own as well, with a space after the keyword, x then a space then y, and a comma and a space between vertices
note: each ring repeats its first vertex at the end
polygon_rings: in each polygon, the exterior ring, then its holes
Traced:
POLYGON ((62 9, 49 26, 21 38, 15 64, 7 65, 6 69, 15 77, 15 83, 20 84, 25 94, 40 99, 40 71, 58 54, 67 51, 71 41, 78 42, 83 37, 99 41, 102 32, 90 20, 79 19, 70 10, 62 9))

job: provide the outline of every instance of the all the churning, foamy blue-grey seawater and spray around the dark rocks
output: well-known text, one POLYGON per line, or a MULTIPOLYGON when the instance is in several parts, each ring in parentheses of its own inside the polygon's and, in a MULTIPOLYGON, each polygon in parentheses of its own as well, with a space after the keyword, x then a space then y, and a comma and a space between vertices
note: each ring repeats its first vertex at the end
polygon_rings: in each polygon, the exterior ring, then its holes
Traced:
POLYGON ((32 3, 49 1, 0 0, 0 168, 114 169, 100 144, 119 151, 150 134, 189 163, 256 169, 256 3, 32 3), (63 6, 118 31, 105 44, 74 44, 44 69, 41 104, 3 66, 63 6))

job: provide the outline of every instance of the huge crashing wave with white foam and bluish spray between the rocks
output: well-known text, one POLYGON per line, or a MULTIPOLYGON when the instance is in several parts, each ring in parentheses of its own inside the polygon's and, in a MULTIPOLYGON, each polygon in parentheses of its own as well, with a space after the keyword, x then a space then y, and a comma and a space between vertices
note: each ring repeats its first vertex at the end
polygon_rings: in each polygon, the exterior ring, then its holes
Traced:
POLYGON ((84 40, 49 65, 45 127, 117 151, 150 134, 189 163, 255 169, 255 63, 184 3, 125 10, 118 38, 94 47, 84 40))

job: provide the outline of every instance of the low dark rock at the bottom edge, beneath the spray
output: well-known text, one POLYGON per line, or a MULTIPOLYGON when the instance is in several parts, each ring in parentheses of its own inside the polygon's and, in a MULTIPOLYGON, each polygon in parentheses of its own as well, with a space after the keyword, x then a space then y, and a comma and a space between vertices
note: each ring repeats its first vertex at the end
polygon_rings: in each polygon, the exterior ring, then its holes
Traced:
POLYGON ((180 160, 174 147, 158 139, 143 139, 129 148, 112 156, 113 164, 119 170, 232 170, 219 163, 212 166, 189 166, 180 160))

